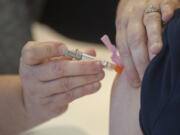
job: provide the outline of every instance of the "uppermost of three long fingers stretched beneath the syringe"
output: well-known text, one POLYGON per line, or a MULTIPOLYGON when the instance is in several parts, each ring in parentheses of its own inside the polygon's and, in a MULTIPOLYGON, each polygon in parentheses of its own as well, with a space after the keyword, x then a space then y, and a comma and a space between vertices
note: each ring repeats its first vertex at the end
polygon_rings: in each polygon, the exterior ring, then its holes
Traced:
POLYGON ((92 60, 57 60, 37 65, 32 70, 39 81, 51 81, 62 77, 97 74, 102 71, 102 64, 92 60))

